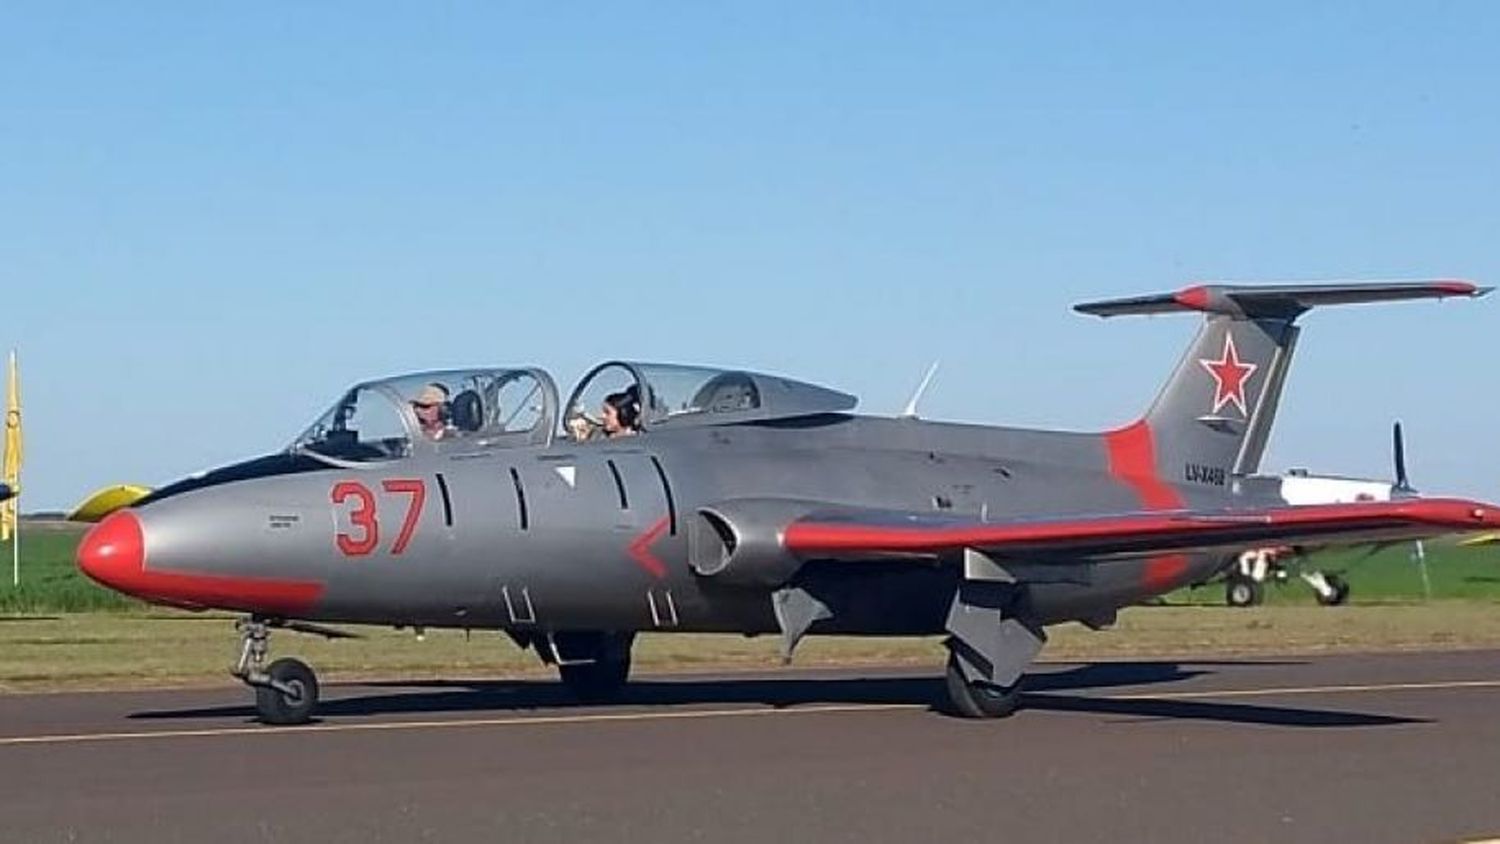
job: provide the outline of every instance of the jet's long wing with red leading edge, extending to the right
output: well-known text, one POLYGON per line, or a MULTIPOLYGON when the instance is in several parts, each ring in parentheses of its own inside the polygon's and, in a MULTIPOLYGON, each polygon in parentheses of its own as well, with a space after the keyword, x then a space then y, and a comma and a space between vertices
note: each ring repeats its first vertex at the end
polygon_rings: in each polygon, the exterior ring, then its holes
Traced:
POLYGON ((984 522, 930 513, 812 513, 786 526, 802 559, 938 556, 975 549, 1012 558, 1142 558, 1263 544, 1360 544, 1500 528, 1500 507, 1455 498, 1174 510, 984 522))

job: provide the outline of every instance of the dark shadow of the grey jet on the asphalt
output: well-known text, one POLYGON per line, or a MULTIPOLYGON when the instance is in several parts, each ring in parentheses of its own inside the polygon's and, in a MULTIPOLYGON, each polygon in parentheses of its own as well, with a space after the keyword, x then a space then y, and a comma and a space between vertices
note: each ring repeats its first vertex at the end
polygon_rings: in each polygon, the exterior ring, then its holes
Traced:
MULTIPOLYGON (((1150 687, 1212 675, 1214 666, 1278 666, 1287 663, 1101 663, 1032 675, 1026 685, 1024 706, 1042 712, 1092 712, 1142 720, 1198 720, 1282 727, 1372 727, 1419 723, 1414 718, 1302 709, 1208 700, 1146 697, 1090 697, 1066 694, 1102 691, 1118 687, 1150 687)), ((322 718, 522 712, 532 709, 600 709, 579 703, 561 684, 552 681, 410 681, 333 685, 338 694, 320 703, 322 718), (374 694, 369 690, 378 690, 374 694), (387 691, 390 690, 390 691, 387 691), (399 691, 398 691, 399 690, 399 691)), ((945 708, 944 681, 936 676, 885 678, 716 678, 716 679, 640 679, 633 681, 618 700, 603 709, 621 706, 764 705, 774 708, 804 705, 918 705, 945 708)), ((138 720, 254 718, 249 705, 162 709, 132 714, 138 720)))

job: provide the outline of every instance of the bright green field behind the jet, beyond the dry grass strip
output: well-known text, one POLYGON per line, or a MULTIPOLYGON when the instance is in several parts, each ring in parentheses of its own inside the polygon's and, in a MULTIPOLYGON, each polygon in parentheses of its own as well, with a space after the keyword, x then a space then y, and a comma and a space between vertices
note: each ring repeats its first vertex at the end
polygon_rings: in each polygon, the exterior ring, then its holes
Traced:
MULTIPOLYGON (((0 579, 0 615, 132 612, 146 604, 94 585, 74 565, 74 550, 82 537, 78 525, 28 522, 22 525, 21 588, 9 577, 0 579)), ((9 568, 9 547, 0 549, 9 568)), ((1425 600, 1422 571, 1412 561, 1408 544, 1392 546, 1374 555, 1364 549, 1316 555, 1316 565, 1342 573, 1352 588, 1350 601, 1410 603, 1425 600)), ((1458 547, 1452 540, 1426 543, 1426 570, 1431 598, 1442 601, 1500 603, 1500 546, 1458 547)), ((1214 583, 1180 589, 1167 595, 1167 604, 1222 604, 1224 588, 1214 583)), ((1268 585, 1266 603, 1272 606, 1312 604, 1312 591, 1298 579, 1268 585)))

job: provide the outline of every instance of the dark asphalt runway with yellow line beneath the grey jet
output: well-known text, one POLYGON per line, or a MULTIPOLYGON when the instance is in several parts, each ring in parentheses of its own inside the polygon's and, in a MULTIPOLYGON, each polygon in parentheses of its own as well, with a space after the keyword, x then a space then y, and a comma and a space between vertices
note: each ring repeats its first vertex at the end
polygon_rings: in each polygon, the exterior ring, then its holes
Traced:
POLYGON ((3 841, 1461 841, 1500 835, 1500 652, 0 697, 3 841))

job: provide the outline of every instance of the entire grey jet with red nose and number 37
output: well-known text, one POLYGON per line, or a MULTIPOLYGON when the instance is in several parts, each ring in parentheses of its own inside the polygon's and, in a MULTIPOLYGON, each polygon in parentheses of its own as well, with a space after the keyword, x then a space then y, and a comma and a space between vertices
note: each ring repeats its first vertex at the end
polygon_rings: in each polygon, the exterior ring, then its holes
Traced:
POLYGON ((946 634, 952 709, 1002 717, 1048 625, 1110 625, 1246 547, 1500 528, 1478 501, 1298 504, 1290 478, 1256 475, 1306 310, 1485 292, 1210 283, 1080 304, 1204 316, 1146 414, 1102 433, 866 417, 789 378, 633 361, 566 403, 537 367, 369 381, 282 451, 86 502, 102 520, 78 565, 244 613, 234 675, 273 724, 309 720, 318 682, 267 663, 272 630, 332 624, 502 630, 585 700, 624 687, 639 631, 778 634, 788 660, 808 633, 946 634))

